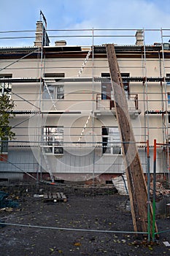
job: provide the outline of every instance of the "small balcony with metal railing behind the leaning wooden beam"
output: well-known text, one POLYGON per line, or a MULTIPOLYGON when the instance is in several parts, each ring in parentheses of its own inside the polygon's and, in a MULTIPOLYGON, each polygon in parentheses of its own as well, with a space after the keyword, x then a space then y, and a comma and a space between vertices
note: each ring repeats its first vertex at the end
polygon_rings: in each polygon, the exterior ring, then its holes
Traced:
MULTIPOLYGON (((141 113, 138 105, 138 94, 128 95, 128 113, 131 118, 135 119, 141 113)), ((96 94, 96 117, 98 116, 112 116, 116 114, 114 99, 102 99, 101 94, 96 94)))

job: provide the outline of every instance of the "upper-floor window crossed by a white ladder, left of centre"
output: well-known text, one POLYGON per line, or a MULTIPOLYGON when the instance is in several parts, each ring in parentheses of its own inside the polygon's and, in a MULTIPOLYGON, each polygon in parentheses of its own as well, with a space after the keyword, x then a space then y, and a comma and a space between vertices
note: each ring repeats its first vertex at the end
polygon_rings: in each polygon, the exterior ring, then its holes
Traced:
POLYGON ((63 84, 45 84, 42 94, 43 99, 64 99, 63 84))

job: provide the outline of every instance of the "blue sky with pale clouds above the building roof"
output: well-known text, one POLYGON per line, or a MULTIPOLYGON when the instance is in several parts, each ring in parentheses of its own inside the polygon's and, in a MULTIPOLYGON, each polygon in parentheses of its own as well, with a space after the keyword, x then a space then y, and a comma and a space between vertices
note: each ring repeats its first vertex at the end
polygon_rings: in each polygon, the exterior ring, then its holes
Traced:
MULTIPOLYGON (((161 28, 170 29, 170 0, 0 0, 0 3, 0 47, 34 45, 40 10, 47 20, 50 45, 61 39, 65 39, 67 45, 135 44, 136 29, 144 29, 145 43, 152 44, 161 42, 161 28), (66 29, 89 31, 51 31, 66 29)), ((163 42, 169 39, 170 30, 163 30, 163 42)))

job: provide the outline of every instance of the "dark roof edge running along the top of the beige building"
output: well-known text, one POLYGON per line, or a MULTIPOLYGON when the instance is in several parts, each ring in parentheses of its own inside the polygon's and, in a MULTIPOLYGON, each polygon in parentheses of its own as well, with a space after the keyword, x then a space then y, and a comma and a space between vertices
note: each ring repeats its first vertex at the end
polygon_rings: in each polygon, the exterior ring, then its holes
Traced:
MULTIPOLYGON (((85 58, 89 49, 90 46, 85 49, 81 45, 45 46, 42 50, 37 47, 0 48, 0 59, 39 59, 41 52, 45 58, 85 58)), ((94 45, 93 49, 95 58, 107 58, 106 45, 94 45)), ((146 45, 145 48, 144 45, 115 45, 117 58, 141 58, 144 53, 147 58, 158 58, 161 51, 161 45, 146 45)), ((164 58, 170 57, 170 50, 163 52, 164 58)))

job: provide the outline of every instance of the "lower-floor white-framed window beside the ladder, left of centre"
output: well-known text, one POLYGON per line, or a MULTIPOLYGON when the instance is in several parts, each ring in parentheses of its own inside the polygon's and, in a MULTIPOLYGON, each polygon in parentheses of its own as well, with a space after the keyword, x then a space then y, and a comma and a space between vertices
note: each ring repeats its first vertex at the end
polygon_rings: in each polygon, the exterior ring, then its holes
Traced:
POLYGON ((43 127, 46 154, 63 154, 63 127, 43 127))

